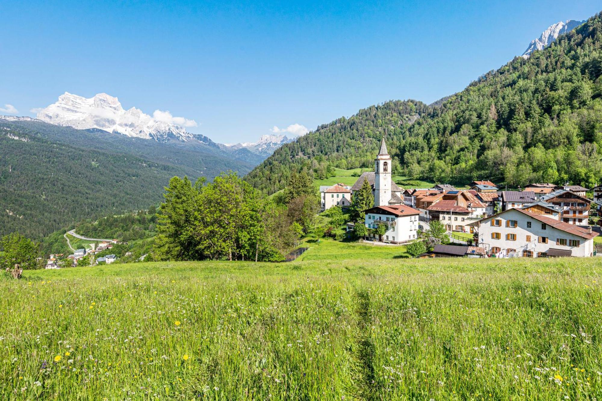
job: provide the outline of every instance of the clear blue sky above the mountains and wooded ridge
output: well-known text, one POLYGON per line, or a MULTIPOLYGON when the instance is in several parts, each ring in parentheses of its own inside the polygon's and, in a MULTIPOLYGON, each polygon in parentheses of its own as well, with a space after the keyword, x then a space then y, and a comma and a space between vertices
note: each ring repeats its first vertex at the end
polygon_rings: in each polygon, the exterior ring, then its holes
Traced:
MULTIPOLYGON (((315 129, 390 99, 432 102, 599 1, 4 2, 0 108, 64 92, 194 119, 214 141, 315 129)), ((15 114, 2 112, 4 114, 15 114)))

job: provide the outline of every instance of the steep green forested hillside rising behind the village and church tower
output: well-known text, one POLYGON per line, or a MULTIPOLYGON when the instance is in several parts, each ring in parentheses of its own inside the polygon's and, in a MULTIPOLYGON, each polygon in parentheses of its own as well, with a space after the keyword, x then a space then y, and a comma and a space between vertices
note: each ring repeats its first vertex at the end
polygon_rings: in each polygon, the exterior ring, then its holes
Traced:
POLYGON ((591 188, 602 181, 601 75, 597 14, 549 48, 486 73, 441 104, 411 102, 420 105, 421 116, 412 125, 393 110, 407 102, 373 106, 284 146, 247 179, 273 192, 291 171, 314 169, 317 157, 335 167, 367 167, 386 134, 398 172, 411 178, 488 178, 510 186, 570 181, 591 188))

